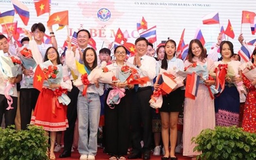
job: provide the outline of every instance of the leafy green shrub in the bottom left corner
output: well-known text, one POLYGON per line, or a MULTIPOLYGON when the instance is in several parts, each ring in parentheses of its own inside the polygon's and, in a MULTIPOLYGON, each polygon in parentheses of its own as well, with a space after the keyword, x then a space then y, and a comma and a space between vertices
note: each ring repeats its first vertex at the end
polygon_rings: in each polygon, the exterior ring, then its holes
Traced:
POLYGON ((42 127, 28 126, 27 130, 0 127, 0 160, 47 160, 48 137, 42 127))

